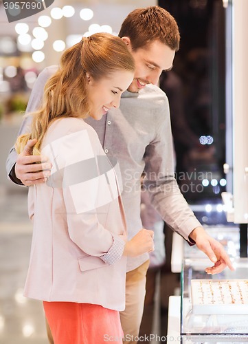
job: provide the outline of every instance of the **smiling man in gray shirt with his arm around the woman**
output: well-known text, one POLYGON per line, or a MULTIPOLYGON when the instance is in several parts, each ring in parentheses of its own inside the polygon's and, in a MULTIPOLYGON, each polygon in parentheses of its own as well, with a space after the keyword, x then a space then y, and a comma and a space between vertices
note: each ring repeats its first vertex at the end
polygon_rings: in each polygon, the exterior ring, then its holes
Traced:
MULTIPOLYGON (((142 228, 140 219, 140 180, 153 206, 165 222, 189 244, 196 246, 214 263, 208 273, 221 272, 232 264, 223 246, 205 233, 185 202, 174 179, 170 111, 166 94, 155 86, 162 71, 170 70, 179 49, 179 30, 174 18, 164 9, 152 6, 137 9, 124 20, 119 36, 135 58, 135 78, 124 92, 120 109, 110 110, 100 121, 87 122, 97 131, 105 153, 119 161, 122 171, 122 198, 126 211, 128 237, 142 228)), ((34 111, 41 102, 43 87, 56 66, 38 76, 27 106, 34 111)), ((20 133, 28 131, 25 118, 20 133)), ((7 170, 17 184, 27 186, 45 182, 51 165, 45 158, 33 156, 34 140, 17 157, 10 151, 7 170), (41 164, 34 164, 41 162, 41 164), (41 171, 43 170, 43 171, 41 171)), ((144 306, 148 255, 129 259, 126 274, 126 310, 121 314, 124 343, 136 343, 144 306)))

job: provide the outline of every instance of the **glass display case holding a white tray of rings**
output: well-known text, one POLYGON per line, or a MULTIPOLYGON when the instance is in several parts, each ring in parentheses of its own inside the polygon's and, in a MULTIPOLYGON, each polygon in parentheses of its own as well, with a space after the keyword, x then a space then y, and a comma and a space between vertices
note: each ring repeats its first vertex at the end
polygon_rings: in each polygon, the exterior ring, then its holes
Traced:
MULTIPOLYGON (((210 261, 207 259, 187 258, 183 261, 181 272, 181 343, 247 343, 248 259, 234 259, 234 267, 236 269, 234 272, 226 268, 217 275, 207 275, 205 273, 204 270, 207 266, 210 266, 209 263, 210 261), (223 301, 223 305, 221 305, 222 311, 216 312, 218 307, 216 308, 215 305, 214 310, 211 303, 218 303, 218 301, 217 299, 211 301, 210 295, 210 300, 205 303, 203 312, 201 312, 201 307, 196 308, 197 312, 194 312, 194 308, 192 307, 192 280, 198 280, 199 286, 203 286, 205 281, 205 284, 208 285, 212 294, 214 292, 212 286, 213 288, 216 284, 218 284, 218 286, 225 286, 225 283, 228 282, 229 288, 233 288, 230 292, 230 294, 232 294, 233 291, 233 298, 229 303, 236 304, 231 305, 231 307, 227 304, 227 308, 225 308, 224 303, 228 303, 228 301, 223 301), (243 290, 238 291, 238 289, 234 289, 235 280, 243 283, 243 290), (201 283, 201 281, 203 281, 203 283, 201 283), (242 292, 245 295, 244 298, 242 292), (242 297, 240 297, 240 295, 242 297), (243 314, 238 314, 238 308, 241 303, 243 303, 241 305, 243 314), (246 307, 244 307, 245 305, 246 307), (232 306, 234 306, 234 308, 232 308, 232 306)), ((202 287, 199 288, 199 291, 201 291, 202 287)), ((193 288, 193 290, 194 293, 197 292, 197 289, 193 288)), ((223 291, 225 292, 225 288, 223 291)), ((223 294, 221 294, 221 296, 223 296, 223 294)), ((195 299, 195 294, 193 299, 195 299)))

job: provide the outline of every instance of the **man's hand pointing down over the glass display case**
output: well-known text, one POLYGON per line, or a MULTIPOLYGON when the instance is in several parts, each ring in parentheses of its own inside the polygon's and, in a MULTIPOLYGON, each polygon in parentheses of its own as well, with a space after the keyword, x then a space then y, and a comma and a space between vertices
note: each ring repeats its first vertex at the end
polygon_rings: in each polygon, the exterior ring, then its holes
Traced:
POLYGON ((227 252, 225 252, 221 243, 210 237, 210 235, 205 232, 204 228, 194 228, 190 233, 190 238, 196 242, 197 248, 203 251, 214 263, 214 266, 205 269, 207 274, 218 274, 227 266, 230 270, 234 271, 234 267, 232 266, 229 256, 227 255, 227 252))

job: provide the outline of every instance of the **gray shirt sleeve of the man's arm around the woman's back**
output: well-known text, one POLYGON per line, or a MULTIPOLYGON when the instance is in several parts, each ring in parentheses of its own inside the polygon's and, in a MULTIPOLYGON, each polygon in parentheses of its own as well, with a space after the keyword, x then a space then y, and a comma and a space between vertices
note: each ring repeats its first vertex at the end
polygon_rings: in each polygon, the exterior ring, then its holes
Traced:
MULTIPOLYGON (((43 71, 38 75, 36 82, 34 83, 34 87, 32 89, 30 99, 27 103, 27 109, 25 111, 25 117, 23 118, 23 122, 21 123, 21 127, 19 129, 18 136, 28 133, 30 131, 30 125, 32 121, 32 116, 28 116, 33 111, 36 111, 41 104, 41 100, 43 98, 43 92, 45 83, 47 82, 48 78, 52 76, 56 72, 57 66, 51 66, 43 69, 43 71)), ((14 173, 14 166, 16 164, 18 154, 14 149, 14 146, 10 149, 8 154, 8 158, 6 161, 6 171, 8 178, 12 180, 15 184, 23 185, 21 180, 16 178, 14 173)))

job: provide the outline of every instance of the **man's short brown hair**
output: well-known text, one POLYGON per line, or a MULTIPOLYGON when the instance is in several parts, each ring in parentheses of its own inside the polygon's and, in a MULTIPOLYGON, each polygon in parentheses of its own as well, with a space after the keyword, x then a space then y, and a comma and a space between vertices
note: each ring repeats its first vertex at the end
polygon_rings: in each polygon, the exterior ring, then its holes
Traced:
POLYGON ((119 36, 129 37, 133 50, 144 48, 156 40, 176 52, 179 50, 180 34, 177 22, 169 12, 159 6, 133 10, 124 19, 119 36))

